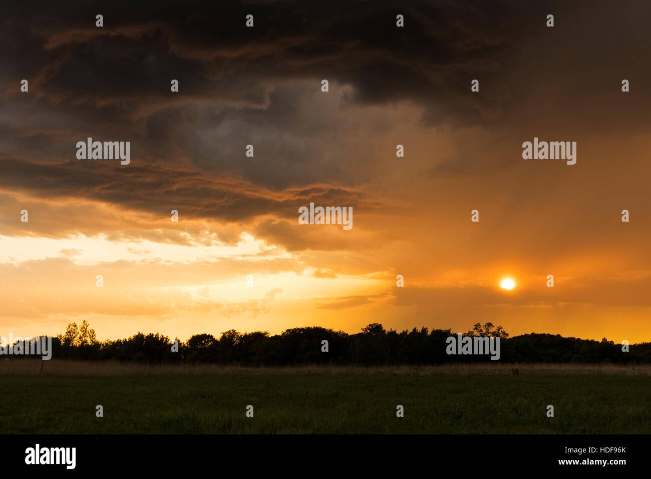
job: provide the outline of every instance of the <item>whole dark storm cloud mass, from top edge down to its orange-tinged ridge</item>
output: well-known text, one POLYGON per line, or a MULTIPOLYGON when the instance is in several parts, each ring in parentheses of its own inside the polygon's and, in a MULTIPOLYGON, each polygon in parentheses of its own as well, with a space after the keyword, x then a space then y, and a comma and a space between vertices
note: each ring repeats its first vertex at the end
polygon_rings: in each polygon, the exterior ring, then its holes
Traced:
MULTIPOLYGON (((374 165, 362 156, 355 170, 350 156, 382 132, 372 125, 372 138, 356 137, 346 107, 406 100, 422 108, 425 128, 499 127, 502 144, 533 124, 644 130, 651 68, 639 55, 650 10, 643 2, 15 3, 0 20, 1 185, 225 221, 294 221, 297 205, 320 197, 316 184, 330 185, 320 198, 373 208, 381 193, 365 187, 374 165), (253 29, 244 26, 249 13, 253 29), (475 78, 478 94, 469 91, 475 78), (623 78, 631 93, 622 98, 623 78), (70 161, 87 136, 132 141, 137 158, 124 168, 70 161), (255 162, 244 157, 249 143, 255 162)), ((482 161, 477 151, 432 171, 452 163, 467 171, 482 161)), ((259 229, 290 241, 284 225, 259 229)))

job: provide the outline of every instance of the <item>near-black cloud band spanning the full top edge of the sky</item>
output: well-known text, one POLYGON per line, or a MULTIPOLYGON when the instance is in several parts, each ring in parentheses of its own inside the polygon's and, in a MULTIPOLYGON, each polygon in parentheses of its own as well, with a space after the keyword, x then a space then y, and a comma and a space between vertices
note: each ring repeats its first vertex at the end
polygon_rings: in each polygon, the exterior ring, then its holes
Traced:
POLYGON ((548 81, 568 85, 569 78, 579 87, 563 99, 572 107, 588 92, 606 93, 620 73, 648 72, 643 62, 629 62, 651 10, 641 2, 569 3, 553 29, 544 24, 559 8, 553 2, 67 5, 8 9, 5 94, 20 77, 35 76, 36 94, 128 118, 169 102, 172 77, 186 99, 258 106, 278 81, 327 77, 352 85, 355 102, 420 103, 426 124, 483 123, 504 120, 548 81), (94 26, 100 11, 104 28, 94 26), (395 27, 397 12, 403 29, 395 27), (244 27, 247 13, 255 15, 253 29, 244 27), (581 75, 579 66, 601 75, 581 75), (486 94, 468 94, 473 78, 486 94))

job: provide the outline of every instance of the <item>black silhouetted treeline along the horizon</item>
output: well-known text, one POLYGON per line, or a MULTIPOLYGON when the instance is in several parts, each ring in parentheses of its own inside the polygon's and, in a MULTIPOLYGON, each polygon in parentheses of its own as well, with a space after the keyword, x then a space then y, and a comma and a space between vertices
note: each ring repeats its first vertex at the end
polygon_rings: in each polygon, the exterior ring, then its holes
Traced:
MULTIPOLYGON (((323 327, 299 327, 271 336, 266 331, 240 333, 231 329, 213 335, 193 335, 186 342, 158 333, 137 333, 122 340, 100 342, 87 322, 52 338, 53 359, 132 361, 135 363, 216 363, 243 366, 291 364, 443 364, 491 361, 490 355, 448 355, 450 329, 414 328, 386 331, 373 323, 361 333, 349 335, 323 327), (325 342, 324 342, 325 341, 325 342), (327 347, 326 347, 327 346, 327 347), (327 351, 326 351, 327 349, 327 351)), ((527 334, 508 337, 501 327, 477 323, 464 336, 499 336, 506 363, 651 363, 651 343, 621 344, 564 338, 561 335, 527 334)), ((18 359, 19 356, 16 356, 18 359)), ((497 361, 495 361, 497 362, 497 361)))

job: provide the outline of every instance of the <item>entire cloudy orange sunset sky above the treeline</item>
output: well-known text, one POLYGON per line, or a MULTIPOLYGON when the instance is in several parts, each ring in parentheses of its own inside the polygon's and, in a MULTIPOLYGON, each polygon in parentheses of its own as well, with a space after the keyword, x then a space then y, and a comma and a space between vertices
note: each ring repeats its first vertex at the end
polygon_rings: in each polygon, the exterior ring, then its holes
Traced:
POLYGON ((0 335, 651 340, 648 2, 214 4, 3 7, 0 335))

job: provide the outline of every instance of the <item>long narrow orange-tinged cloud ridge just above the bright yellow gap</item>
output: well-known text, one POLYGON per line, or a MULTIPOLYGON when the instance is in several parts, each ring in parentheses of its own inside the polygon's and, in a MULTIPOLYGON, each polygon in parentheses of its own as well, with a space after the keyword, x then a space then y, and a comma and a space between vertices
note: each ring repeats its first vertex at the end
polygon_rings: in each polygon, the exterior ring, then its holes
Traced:
POLYGON ((334 185, 271 191, 247 180, 210 178, 151 165, 124 168, 102 161, 50 165, 9 158, 0 159, 0 171, 1 189, 27 191, 33 197, 86 198, 163 215, 176 209, 193 219, 237 222, 273 215, 294 221, 298 217, 296 204, 310 200, 361 208, 374 204, 364 193, 334 185))

